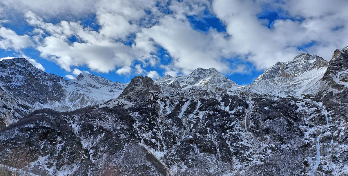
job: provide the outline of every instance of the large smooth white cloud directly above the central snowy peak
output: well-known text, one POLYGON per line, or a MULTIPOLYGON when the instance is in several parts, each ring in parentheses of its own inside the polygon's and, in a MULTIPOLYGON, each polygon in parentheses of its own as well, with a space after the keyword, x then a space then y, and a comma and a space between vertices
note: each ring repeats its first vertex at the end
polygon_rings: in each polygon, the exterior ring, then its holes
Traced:
MULTIPOLYGON (((142 33, 167 49, 173 58, 166 67, 167 71, 179 68, 183 74, 189 74, 197 67, 214 67, 221 72, 229 72, 229 64, 222 60, 231 54, 227 50, 221 51, 221 47, 227 44, 223 33, 210 30, 205 34, 193 30, 188 21, 174 17, 164 17, 160 24, 143 29, 142 33)), ((149 40, 148 45, 152 43, 149 40)))

